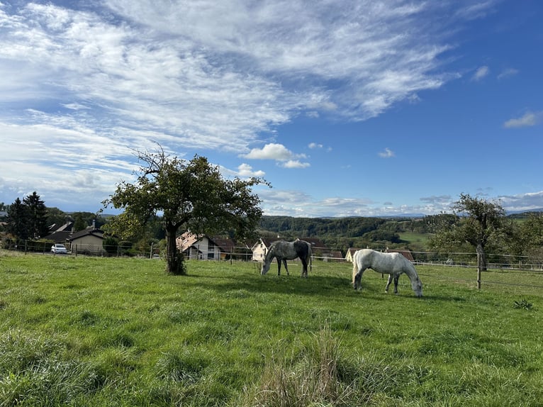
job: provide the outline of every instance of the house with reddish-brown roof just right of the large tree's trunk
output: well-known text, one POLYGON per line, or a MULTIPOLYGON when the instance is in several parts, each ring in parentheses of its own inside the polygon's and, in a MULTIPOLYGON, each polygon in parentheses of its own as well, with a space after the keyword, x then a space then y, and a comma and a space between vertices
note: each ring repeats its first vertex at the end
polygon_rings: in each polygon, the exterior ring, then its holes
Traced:
POLYGON ((176 239, 177 249, 186 259, 191 260, 225 260, 234 251, 235 242, 227 238, 206 235, 195 235, 185 232, 176 239))

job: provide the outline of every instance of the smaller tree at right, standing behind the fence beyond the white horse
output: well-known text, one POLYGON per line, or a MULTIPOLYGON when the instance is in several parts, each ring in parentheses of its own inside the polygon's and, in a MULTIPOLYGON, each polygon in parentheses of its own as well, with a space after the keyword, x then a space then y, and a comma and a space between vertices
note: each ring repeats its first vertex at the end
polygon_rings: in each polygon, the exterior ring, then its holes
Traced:
POLYGON ((446 227, 437 228, 435 235, 430 238, 430 247, 443 250, 451 245, 467 242, 477 253, 478 271, 485 271, 485 247, 489 242, 503 236, 505 211, 500 204, 473 198, 468 194, 460 194, 460 199, 454 203, 452 210, 457 221, 452 225, 449 223, 446 227))

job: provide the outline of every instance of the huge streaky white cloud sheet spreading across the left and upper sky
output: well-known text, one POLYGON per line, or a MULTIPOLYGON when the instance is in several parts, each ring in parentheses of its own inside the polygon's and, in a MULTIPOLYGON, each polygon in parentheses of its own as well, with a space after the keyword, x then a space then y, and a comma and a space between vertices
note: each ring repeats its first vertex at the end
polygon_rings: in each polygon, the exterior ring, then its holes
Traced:
MULTIPOLYGON (((308 167, 269 143, 278 126, 298 116, 364 121, 442 87, 457 77, 443 65, 449 28, 492 2, 470 13, 397 0, 17 5, 0 2, 0 96, 10 106, 0 109, 0 173, 9 174, 0 192, 35 188, 34 173, 60 168, 103 195, 130 177, 130 147, 154 142, 176 155, 217 150, 308 167), (268 147, 254 149, 264 137, 268 147), (39 160, 23 169, 22 156, 39 160)), ((41 193, 69 182, 57 177, 41 193)))

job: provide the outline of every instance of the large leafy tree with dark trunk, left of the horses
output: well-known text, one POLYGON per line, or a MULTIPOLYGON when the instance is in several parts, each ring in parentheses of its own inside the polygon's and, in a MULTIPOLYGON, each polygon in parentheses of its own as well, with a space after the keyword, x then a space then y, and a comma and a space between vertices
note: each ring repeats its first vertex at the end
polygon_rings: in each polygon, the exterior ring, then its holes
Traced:
POLYGON ((186 274, 176 245, 179 228, 196 234, 232 229, 237 238, 246 238, 257 227, 261 201, 250 188, 266 184, 263 179, 223 179, 205 157, 180 160, 166 155, 160 145, 157 152, 138 151, 137 157, 143 165, 135 184, 121 182, 103 205, 124 209, 109 225, 123 238, 138 235, 147 221, 162 212, 167 272, 186 274))

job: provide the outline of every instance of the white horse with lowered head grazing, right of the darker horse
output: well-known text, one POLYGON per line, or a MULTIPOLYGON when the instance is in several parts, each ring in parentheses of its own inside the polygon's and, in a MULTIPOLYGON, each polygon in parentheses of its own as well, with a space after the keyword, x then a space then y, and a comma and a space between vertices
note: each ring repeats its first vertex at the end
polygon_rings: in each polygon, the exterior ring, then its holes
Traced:
POLYGON ((405 273, 411 280, 411 288, 418 297, 422 297, 422 283, 418 278, 413 263, 401 253, 381 253, 371 249, 362 249, 352 256, 352 285, 354 289, 362 288, 362 274, 366 269, 372 269, 381 274, 388 274, 385 292, 394 279, 394 294, 398 294, 398 279, 405 273))

